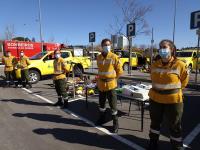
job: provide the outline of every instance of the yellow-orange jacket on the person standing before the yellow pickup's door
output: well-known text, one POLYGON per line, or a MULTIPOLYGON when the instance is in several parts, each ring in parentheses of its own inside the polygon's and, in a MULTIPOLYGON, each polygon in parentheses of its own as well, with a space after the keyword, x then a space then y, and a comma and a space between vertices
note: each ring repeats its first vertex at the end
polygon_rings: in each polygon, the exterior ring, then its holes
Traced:
POLYGON ((53 62, 54 76, 53 80, 65 79, 66 73, 70 71, 70 67, 65 64, 62 57, 55 59, 53 62))

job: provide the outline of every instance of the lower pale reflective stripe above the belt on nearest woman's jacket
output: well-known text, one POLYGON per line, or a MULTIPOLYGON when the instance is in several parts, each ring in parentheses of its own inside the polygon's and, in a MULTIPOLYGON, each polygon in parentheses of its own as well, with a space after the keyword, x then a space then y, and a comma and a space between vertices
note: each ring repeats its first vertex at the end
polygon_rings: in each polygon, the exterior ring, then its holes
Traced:
POLYGON ((158 83, 152 83, 152 87, 156 89, 180 89, 181 88, 181 82, 175 83, 175 84, 158 84, 158 83))

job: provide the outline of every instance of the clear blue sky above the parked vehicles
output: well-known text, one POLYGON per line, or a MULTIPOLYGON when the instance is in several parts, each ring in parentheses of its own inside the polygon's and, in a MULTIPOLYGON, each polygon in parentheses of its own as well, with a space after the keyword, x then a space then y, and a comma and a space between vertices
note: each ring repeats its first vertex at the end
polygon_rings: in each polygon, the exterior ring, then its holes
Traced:
MULTIPOLYGON (((39 36, 38 0, 0 0, 0 38, 7 25, 14 25, 16 36, 39 36)), ((150 28, 154 28, 155 43, 172 39, 174 0, 138 0, 142 5, 151 5, 146 15, 150 28)), ((190 14, 200 10, 199 0, 177 0, 175 44, 178 48, 196 46, 197 35, 190 30, 190 14)), ((114 0, 41 0, 43 39, 54 38, 55 42, 89 44, 88 33, 96 32, 96 44, 109 37, 106 32, 114 16, 121 16, 114 0)), ((125 31, 125 29, 124 29, 125 31)), ((151 36, 137 36, 133 44, 149 45, 151 36)))

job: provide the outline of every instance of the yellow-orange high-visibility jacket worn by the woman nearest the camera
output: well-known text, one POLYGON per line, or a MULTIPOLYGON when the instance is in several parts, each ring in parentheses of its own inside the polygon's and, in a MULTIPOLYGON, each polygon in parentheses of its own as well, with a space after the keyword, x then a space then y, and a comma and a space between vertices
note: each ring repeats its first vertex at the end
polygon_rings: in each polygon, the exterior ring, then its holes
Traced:
POLYGON ((184 62, 173 59, 167 65, 163 65, 161 59, 154 62, 151 66, 152 89, 149 97, 158 103, 173 104, 181 103, 182 89, 189 81, 188 69, 184 62), (177 90, 175 93, 161 94, 158 91, 177 90))

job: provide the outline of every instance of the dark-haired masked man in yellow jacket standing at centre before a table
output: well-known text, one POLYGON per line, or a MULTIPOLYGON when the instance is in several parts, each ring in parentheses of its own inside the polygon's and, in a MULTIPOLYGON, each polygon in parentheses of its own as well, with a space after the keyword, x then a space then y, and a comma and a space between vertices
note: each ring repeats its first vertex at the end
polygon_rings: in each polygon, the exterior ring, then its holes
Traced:
POLYGON ((101 42, 102 52, 97 56, 98 66, 98 89, 99 89, 99 110, 100 117, 96 125, 105 123, 106 99, 108 99, 113 118, 113 132, 118 132, 118 116, 117 116, 117 95, 115 88, 117 80, 123 73, 122 64, 118 56, 111 52, 111 41, 103 39, 101 42))

